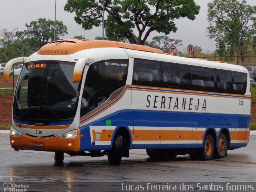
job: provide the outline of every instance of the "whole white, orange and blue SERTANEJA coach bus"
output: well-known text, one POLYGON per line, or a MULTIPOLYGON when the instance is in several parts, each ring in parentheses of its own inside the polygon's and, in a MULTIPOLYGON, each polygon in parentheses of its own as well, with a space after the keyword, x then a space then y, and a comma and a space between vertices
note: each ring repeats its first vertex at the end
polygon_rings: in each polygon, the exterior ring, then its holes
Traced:
POLYGON ((152 158, 223 158, 249 140, 250 81, 242 66, 182 58, 146 46, 58 40, 23 63, 13 102, 15 150, 152 158))

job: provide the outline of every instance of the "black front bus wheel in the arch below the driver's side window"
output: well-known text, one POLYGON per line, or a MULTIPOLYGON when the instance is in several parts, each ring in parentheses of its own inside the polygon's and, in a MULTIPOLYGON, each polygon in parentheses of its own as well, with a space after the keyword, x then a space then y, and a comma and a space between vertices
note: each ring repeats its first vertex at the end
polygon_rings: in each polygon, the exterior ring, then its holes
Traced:
POLYGON ((112 165, 120 164, 123 154, 123 138, 122 135, 117 135, 114 138, 113 146, 108 151, 108 162, 112 165))

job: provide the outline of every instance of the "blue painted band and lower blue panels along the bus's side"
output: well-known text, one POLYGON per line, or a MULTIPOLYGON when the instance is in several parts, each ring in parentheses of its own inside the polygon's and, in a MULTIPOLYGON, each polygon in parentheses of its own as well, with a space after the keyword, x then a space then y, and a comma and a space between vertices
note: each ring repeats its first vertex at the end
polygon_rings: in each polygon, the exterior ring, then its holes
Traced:
MULTIPOLYGON (((106 126, 106 120, 111 119, 112 128, 125 126, 126 128, 133 126, 139 127, 178 127, 178 128, 249 128, 249 115, 234 114, 206 114, 206 113, 188 113, 188 112, 162 112, 162 111, 146 111, 146 110, 122 110, 101 118, 95 122, 80 127, 81 137, 80 150, 109 150, 111 145, 92 145, 90 138, 90 126, 106 126), (148 117, 147 115, 150 114, 148 117), (171 116, 171 118, 170 118, 171 116), (186 117, 186 118, 185 118, 186 117), (210 120, 208 120, 210 118, 210 120), (175 119, 175 120, 174 120, 175 119)), ((113 131, 116 131, 113 130, 113 131)), ((132 136, 131 136, 132 137, 132 136)), ((132 139, 132 138, 130 138, 132 139)), ((113 138, 112 138, 113 140, 113 138)), ((245 139, 244 139, 245 140, 245 139)), ((143 148, 201 148, 201 144, 132 144, 132 149, 143 148)), ((230 144, 230 147, 243 147, 244 143, 230 144)))

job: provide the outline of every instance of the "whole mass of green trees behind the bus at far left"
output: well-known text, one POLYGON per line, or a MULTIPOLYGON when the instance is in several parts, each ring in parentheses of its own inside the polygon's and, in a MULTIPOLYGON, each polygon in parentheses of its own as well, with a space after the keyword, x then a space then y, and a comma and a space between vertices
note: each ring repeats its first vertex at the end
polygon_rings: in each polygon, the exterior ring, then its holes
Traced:
MULTIPOLYGON (((40 18, 26 24, 27 30, 3 29, 0 31, 0 61, 7 62, 16 57, 29 56, 54 39, 54 21, 40 18)), ((56 21, 56 39, 68 34, 62 21, 56 21)))

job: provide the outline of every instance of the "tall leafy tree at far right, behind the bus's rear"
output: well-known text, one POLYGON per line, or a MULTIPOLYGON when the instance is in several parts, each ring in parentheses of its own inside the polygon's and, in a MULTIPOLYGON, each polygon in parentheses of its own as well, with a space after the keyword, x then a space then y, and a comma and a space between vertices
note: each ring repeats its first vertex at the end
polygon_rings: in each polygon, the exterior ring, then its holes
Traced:
POLYGON ((246 46, 256 36, 256 6, 246 0, 213 0, 208 3, 208 34, 214 38, 218 53, 244 56, 246 46))

